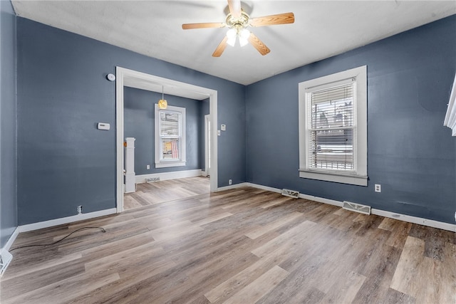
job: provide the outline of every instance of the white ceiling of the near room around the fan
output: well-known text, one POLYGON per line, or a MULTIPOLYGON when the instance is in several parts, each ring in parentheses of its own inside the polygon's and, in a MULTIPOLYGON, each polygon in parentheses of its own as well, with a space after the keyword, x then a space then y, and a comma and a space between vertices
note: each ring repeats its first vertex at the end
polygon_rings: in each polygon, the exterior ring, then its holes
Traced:
POLYGON ((18 16, 249 85, 456 14, 456 1, 243 1, 251 17, 293 12, 295 23, 250 28, 271 49, 227 46, 226 28, 182 30, 182 23, 224 22, 227 1, 19 1, 18 16))

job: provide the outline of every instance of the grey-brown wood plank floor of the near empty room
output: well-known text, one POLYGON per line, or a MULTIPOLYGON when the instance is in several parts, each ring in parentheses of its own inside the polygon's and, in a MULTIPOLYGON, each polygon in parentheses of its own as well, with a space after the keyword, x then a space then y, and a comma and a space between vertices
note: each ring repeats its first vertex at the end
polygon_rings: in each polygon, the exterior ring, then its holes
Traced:
POLYGON ((19 234, 13 248, 84 226, 106 232, 13 251, 1 303, 456 303, 454 232, 249 187, 19 234))

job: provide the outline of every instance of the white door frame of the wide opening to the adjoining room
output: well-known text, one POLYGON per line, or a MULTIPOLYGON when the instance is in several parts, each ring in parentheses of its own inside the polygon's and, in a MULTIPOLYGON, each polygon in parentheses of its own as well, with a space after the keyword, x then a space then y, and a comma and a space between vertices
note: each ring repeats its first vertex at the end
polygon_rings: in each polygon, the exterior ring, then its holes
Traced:
MULTIPOLYGON (((136 70, 127 68, 115 68, 115 150, 116 150, 116 206, 117 212, 123 211, 123 87, 125 80, 142 80, 150 81, 151 83, 159 83, 160 85, 169 85, 188 90, 189 92, 207 95, 209 98, 209 115, 211 120, 211 129, 217 130, 217 90, 191 85, 190 83, 181 83, 180 81, 158 77, 146 73, 141 73, 136 70)), ((151 105, 152 106, 152 105, 151 105)), ((211 178, 210 191, 217 191, 217 132, 212 132, 211 138, 211 178)))

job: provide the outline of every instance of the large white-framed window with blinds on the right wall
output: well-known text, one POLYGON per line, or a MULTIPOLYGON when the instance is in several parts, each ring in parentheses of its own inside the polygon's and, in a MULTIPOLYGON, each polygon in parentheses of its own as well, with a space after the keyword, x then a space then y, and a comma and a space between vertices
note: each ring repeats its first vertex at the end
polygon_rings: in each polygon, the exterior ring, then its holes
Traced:
POLYGON ((299 177, 367 186, 366 65, 299 83, 299 177))

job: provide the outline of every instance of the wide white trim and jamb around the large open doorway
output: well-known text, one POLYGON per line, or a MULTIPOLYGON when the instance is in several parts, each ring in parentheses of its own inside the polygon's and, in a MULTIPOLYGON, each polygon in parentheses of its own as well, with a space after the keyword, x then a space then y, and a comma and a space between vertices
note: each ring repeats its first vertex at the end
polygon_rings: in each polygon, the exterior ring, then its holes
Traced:
MULTIPOLYGON (((115 69, 115 150, 116 150, 116 206, 117 212, 123 211, 123 88, 124 86, 133 88, 142 88, 144 90, 152 90, 161 93, 165 90, 165 94, 179 95, 185 98, 192 99, 207 99, 209 98, 209 117, 210 129, 217 130, 217 90, 191 85, 189 83, 181 83, 180 81, 141 73, 136 70, 127 68, 115 69), (164 89, 163 89, 164 88, 164 89), (168 91, 168 93, 166 92, 168 91)), ((153 103, 151 102, 151 107, 153 103)), ((212 132, 210 139, 210 191, 217 191, 217 132, 212 132)))

